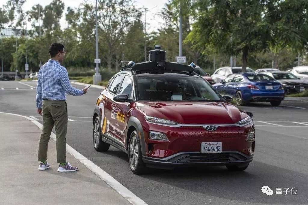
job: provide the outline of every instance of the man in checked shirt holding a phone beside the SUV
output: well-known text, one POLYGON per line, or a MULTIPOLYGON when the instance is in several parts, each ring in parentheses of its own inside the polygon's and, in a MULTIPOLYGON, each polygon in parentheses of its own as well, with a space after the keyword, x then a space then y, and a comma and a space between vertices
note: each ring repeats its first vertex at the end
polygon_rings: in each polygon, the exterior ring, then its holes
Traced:
POLYGON ((39 170, 50 168, 47 163, 47 148, 52 128, 55 126, 57 162, 59 172, 76 171, 66 161, 67 104, 66 94, 79 96, 87 93, 71 86, 67 70, 60 65, 65 56, 64 45, 53 43, 49 48, 50 60, 39 69, 36 87, 38 114, 43 113, 43 130, 39 140, 39 170))

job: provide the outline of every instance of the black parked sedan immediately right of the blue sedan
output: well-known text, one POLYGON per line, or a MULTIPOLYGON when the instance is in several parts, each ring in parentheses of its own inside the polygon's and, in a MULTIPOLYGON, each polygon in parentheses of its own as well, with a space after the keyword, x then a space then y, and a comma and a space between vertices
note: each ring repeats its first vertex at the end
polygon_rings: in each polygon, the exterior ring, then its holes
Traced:
POLYGON ((279 81, 285 89, 285 93, 287 95, 308 90, 308 81, 301 80, 293 73, 283 71, 271 71, 265 74, 279 81))

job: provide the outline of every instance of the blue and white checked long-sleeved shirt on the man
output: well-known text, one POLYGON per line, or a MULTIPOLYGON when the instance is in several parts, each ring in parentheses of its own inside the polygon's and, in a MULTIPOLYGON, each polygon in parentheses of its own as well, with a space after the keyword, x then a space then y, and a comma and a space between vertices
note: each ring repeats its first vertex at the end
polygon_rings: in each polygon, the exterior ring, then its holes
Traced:
POLYGON ((66 94, 83 95, 82 90, 71 86, 67 70, 58 61, 48 60, 40 69, 36 86, 36 106, 42 108, 43 99, 66 100, 66 94))

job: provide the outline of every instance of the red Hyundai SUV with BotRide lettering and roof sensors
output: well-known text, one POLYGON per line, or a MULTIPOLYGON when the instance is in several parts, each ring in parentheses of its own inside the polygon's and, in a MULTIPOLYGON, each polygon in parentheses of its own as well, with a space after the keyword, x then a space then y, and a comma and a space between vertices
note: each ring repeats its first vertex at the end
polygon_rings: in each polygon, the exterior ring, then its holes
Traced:
POLYGON ((149 168, 225 165, 243 171, 253 159, 251 113, 228 103, 194 64, 165 62, 150 51, 147 62, 122 67, 96 101, 93 144, 128 153, 133 173, 149 168))

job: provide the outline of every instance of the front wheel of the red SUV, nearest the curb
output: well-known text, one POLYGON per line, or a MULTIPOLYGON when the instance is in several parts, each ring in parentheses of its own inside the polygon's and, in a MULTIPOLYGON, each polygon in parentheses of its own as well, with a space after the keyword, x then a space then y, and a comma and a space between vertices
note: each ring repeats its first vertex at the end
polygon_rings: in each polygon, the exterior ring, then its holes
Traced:
POLYGON ((141 145, 138 133, 134 130, 128 141, 128 162, 134 174, 143 174, 146 170, 146 165, 142 160, 141 145))

